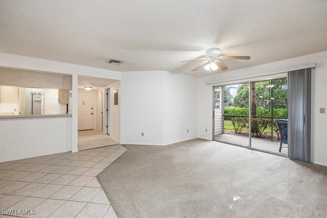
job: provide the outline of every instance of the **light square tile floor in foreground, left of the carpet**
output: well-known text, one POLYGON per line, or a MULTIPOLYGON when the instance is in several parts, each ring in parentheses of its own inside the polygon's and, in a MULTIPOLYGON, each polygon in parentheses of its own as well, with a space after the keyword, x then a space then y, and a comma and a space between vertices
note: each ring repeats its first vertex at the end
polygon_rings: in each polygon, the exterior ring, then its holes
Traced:
POLYGON ((114 145, 0 163, 0 218, 116 217, 96 176, 126 150, 114 145))

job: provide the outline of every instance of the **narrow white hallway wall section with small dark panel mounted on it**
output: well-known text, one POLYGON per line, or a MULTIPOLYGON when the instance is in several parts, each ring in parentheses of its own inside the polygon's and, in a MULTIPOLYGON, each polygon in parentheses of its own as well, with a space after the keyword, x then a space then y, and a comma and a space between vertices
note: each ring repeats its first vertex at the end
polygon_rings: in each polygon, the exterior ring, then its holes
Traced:
POLYGON ((121 142, 121 81, 110 85, 109 99, 109 133, 110 138, 121 142), (114 105, 114 90, 118 89, 118 105, 114 105))

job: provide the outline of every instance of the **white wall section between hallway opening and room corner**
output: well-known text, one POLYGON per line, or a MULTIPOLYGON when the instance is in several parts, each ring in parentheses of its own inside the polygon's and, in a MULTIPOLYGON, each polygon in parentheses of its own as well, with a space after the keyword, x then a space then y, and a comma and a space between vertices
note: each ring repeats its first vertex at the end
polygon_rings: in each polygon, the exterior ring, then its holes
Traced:
MULTIPOLYGON (((165 74, 164 71, 122 72, 121 143, 164 144, 165 74)), ((111 86, 110 90, 113 92, 114 88, 111 86)))

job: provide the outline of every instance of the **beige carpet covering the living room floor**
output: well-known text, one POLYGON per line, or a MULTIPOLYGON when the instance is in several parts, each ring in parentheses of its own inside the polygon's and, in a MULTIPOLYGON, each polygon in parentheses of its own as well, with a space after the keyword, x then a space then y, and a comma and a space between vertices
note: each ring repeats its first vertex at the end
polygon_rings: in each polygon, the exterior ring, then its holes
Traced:
POLYGON ((327 167, 220 142, 126 146, 98 176, 118 217, 327 217, 327 167))

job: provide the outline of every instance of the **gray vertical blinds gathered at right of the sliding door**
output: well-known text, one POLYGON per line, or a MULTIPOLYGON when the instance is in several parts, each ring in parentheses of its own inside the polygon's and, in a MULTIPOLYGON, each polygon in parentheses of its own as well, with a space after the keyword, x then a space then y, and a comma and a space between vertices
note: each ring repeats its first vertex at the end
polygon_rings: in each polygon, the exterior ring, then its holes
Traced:
POLYGON ((288 156, 311 162, 311 68, 289 71, 288 156))

